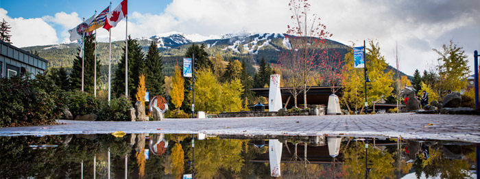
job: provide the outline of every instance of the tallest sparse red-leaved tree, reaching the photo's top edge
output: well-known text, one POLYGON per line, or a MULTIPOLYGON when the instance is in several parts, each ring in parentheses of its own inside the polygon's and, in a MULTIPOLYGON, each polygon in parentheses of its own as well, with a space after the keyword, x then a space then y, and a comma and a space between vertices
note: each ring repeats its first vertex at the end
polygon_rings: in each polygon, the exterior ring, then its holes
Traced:
MULTIPOLYGON (((326 26, 320 22, 320 18, 317 18, 316 14, 311 14, 310 6, 308 0, 291 0, 289 2, 292 23, 288 25, 285 34, 289 43, 285 43, 287 52, 279 57, 281 66, 291 64, 291 66, 282 67, 290 69, 282 71, 293 71, 291 75, 300 81, 300 86, 291 87, 297 89, 300 87, 300 92, 304 94, 304 107, 307 107, 307 92, 310 89, 310 85, 307 86, 307 83, 309 78, 317 73, 321 59, 326 55, 326 38, 332 36, 326 31, 326 26)), ((287 74, 283 73, 283 75, 287 79, 287 74)))

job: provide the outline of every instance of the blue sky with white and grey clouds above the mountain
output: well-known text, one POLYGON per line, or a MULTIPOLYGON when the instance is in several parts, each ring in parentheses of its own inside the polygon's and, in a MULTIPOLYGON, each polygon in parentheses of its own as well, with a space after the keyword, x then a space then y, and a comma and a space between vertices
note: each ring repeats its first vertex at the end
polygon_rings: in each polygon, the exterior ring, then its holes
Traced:
MULTIPOLYGON (((0 0, 0 18, 12 26, 19 47, 69 43, 68 30, 101 11, 110 1, 0 0)), ((112 1, 115 8, 121 0, 112 1)), ((289 0, 169 0, 128 2, 128 25, 112 29, 112 41, 162 34, 211 36, 226 33, 285 33, 291 24, 289 0)), ((359 45, 376 40, 387 63, 394 65, 398 44, 400 70, 429 70, 450 40, 463 46, 468 58, 480 49, 478 0, 311 0, 311 12, 322 18, 332 40, 359 45)), ((108 31, 97 29, 108 42, 108 31)), ((470 60, 469 66, 473 66, 470 60)))

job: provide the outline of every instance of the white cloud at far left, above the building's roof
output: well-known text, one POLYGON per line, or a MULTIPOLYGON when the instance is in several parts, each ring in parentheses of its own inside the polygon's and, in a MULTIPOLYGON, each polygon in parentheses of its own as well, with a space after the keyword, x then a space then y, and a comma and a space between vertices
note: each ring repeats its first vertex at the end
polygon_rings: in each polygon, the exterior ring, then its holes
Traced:
POLYGON ((12 27, 10 41, 14 46, 35 46, 58 43, 56 31, 42 18, 10 18, 7 11, 0 8, 0 18, 12 27))

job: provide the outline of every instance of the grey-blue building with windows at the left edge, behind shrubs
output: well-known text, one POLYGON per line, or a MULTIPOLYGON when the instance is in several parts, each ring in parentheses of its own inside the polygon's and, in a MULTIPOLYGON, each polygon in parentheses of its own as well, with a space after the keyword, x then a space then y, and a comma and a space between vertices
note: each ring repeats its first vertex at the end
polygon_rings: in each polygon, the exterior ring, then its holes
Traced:
POLYGON ((33 78, 47 70, 48 61, 0 40, 0 77, 29 74, 33 78))

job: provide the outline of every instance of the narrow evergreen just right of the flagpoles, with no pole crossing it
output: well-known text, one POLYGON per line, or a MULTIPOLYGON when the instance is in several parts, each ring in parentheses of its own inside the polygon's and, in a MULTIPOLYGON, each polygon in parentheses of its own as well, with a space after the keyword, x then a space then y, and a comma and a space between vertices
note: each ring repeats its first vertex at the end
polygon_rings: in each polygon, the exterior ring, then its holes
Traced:
POLYGON ((145 57, 145 65, 147 67, 146 85, 150 96, 163 96, 165 90, 165 76, 163 75, 163 61, 160 57, 160 51, 156 48, 156 42, 152 40, 145 57))

